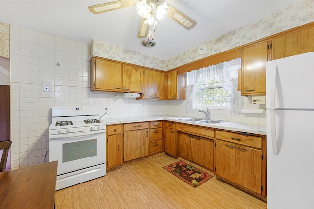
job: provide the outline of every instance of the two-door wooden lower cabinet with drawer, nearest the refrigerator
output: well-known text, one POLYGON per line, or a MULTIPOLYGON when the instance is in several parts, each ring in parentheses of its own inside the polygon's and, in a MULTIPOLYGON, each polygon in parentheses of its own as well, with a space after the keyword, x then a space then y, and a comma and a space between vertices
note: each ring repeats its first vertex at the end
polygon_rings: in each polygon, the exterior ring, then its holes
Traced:
POLYGON ((215 174, 261 195, 265 188, 262 178, 264 158, 261 149, 262 138, 228 131, 216 131, 216 137, 218 138, 215 142, 215 174), (256 147, 243 144, 255 144, 256 147))

